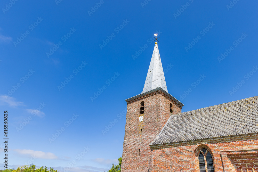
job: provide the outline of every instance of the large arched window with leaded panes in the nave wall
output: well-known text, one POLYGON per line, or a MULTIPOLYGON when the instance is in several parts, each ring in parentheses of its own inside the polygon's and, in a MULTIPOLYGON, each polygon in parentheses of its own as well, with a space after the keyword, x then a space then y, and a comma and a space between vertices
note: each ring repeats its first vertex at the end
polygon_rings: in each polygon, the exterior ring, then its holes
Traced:
POLYGON ((214 172, 212 155, 206 148, 200 150, 198 159, 200 172, 214 172))

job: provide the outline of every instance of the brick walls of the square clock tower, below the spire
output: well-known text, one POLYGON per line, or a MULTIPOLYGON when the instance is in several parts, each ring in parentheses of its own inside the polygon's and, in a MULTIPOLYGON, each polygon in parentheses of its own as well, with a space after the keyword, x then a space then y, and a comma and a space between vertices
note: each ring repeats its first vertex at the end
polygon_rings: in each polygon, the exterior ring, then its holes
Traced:
POLYGON ((151 171, 150 143, 170 117, 170 103, 173 105, 173 114, 181 113, 182 106, 161 90, 127 102, 121 172, 151 171), (140 114, 142 101, 144 101, 144 113, 140 114), (143 116, 142 122, 139 122, 140 116, 143 116))

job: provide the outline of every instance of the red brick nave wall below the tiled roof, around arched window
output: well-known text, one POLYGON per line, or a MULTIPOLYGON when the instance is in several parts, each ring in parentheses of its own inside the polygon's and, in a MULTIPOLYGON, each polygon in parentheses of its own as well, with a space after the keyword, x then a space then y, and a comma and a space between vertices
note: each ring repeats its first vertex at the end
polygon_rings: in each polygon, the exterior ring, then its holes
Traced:
POLYGON ((216 172, 258 171, 258 135, 151 146, 150 171, 199 171, 198 155, 203 147, 211 153, 216 172))

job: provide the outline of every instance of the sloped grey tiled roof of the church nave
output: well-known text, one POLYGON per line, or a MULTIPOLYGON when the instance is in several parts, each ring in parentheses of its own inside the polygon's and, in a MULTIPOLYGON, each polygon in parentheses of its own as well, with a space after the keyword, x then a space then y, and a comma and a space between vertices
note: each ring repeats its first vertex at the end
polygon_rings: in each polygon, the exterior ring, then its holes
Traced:
POLYGON ((258 96, 172 115, 151 145, 258 133, 258 96))

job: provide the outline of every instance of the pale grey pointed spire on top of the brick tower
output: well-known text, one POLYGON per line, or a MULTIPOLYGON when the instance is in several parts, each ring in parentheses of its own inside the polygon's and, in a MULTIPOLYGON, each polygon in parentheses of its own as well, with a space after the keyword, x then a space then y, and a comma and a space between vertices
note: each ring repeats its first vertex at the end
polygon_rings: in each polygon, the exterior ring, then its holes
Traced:
POLYGON ((150 67, 142 93, 146 93, 158 87, 161 87, 167 92, 167 85, 160 60, 158 43, 155 42, 155 47, 150 61, 150 67))

